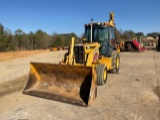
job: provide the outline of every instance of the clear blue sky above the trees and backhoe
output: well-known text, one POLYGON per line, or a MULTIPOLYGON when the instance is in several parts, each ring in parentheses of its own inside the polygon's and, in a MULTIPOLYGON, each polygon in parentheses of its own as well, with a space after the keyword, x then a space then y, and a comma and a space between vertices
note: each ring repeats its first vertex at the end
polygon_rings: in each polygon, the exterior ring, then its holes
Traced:
POLYGON ((0 23, 17 29, 48 34, 74 32, 80 36, 84 24, 108 21, 114 11, 117 29, 160 32, 160 0, 0 0, 0 23))

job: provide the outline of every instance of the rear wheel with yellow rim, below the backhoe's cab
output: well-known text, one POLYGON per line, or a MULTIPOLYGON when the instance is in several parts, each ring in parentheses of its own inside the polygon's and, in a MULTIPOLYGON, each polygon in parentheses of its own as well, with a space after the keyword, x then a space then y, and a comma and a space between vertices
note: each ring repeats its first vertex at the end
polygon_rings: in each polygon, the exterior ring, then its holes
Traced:
POLYGON ((113 55, 113 69, 111 70, 112 73, 119 73, 119 68, 120 68, 120 56, 119 53, 116 55, 113 55))

